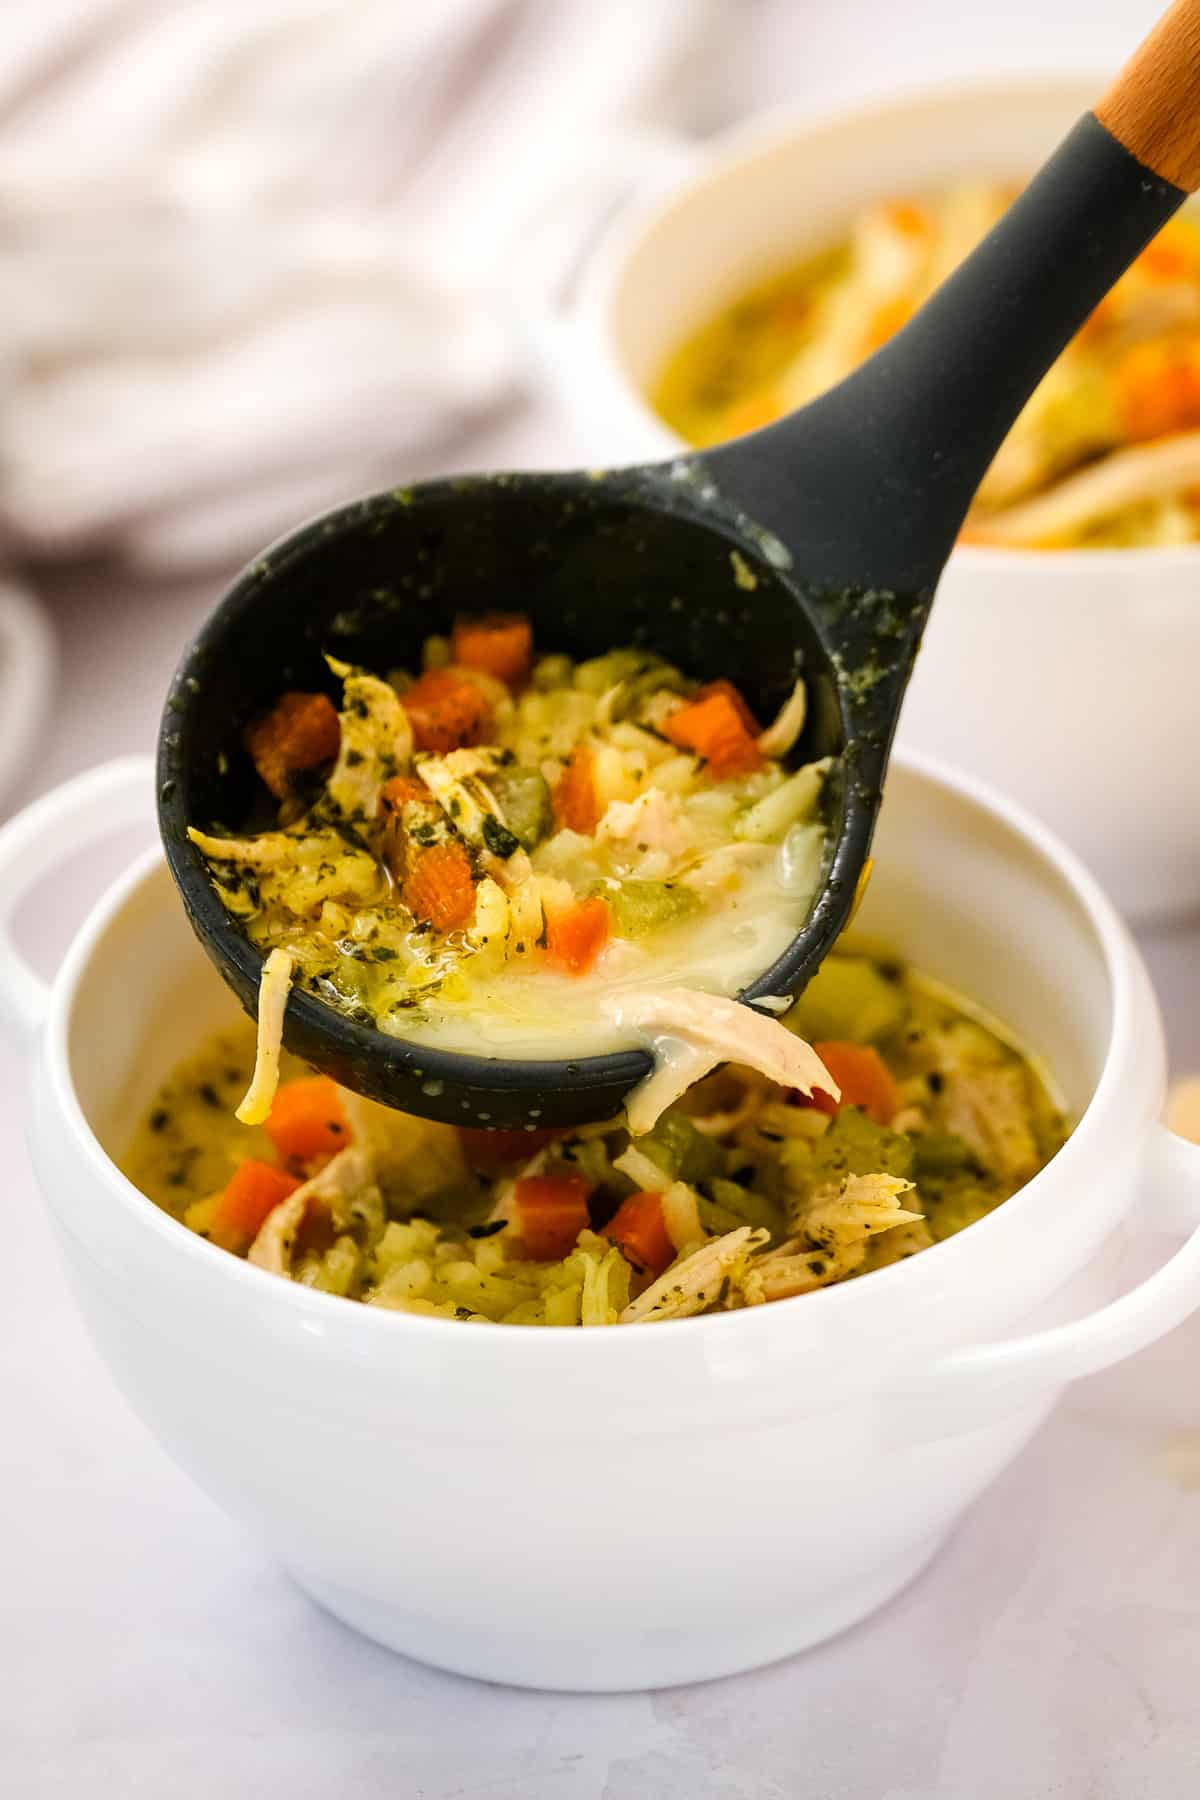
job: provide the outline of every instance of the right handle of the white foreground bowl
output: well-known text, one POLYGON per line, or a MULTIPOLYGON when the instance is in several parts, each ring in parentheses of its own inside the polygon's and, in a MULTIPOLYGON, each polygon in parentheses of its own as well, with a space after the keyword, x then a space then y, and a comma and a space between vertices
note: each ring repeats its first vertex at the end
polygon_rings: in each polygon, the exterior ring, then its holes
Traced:
POLYGON ((919 1382, 939 1426, 963 1429, 968 1418, 982 1422, 981 1415, 1094 1375, 1157 1343, 1200 1307, 1200 1145, 1153 1123, 1144 1166, 1146 1224, 1178 1229, 1186 1222, 1187 1240, 1139 1287, 1083 1319, 943 1357, 919 1382))

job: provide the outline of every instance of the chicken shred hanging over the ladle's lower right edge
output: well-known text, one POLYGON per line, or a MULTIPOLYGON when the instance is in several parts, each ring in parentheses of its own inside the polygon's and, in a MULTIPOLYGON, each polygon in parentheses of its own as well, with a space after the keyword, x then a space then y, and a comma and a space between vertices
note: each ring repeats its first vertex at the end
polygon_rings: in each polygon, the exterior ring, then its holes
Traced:
POLYGON ((648 1132, 680 1094, 720 1062, 757 1069, 781 1087, 842 1098, 820 1057, 777 1019, 718 994, 658 988, 613 994, 604 1008, 621 1030, 637 1031, 655 1051, 655 1067, 626 1102, 633 1136, 648 1132))

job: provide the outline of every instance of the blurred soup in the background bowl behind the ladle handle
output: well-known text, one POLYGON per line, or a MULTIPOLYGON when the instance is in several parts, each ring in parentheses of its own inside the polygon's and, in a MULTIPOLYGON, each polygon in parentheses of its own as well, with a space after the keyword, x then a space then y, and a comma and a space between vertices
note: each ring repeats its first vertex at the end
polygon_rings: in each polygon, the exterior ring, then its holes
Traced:
MULTIPOLYGON (((766 425, 887 342, 1015 198, 1000 184, 867 207, 671 358, 655 407, 689 443, 766 425)), ((964 538, 1042 549, 1200 538, 1200 220, 1171 220, 1043 378, 964 538)))

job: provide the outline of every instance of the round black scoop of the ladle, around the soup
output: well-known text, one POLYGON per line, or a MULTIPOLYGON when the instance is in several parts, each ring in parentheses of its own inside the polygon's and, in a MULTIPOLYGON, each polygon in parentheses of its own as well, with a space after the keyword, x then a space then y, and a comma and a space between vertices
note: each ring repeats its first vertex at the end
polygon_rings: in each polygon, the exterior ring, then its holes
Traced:
MULTIPOLYGON (((248 1012, 261 952, 232 925, 196 821, 241 821, 255 774, 241 736, 282 689, 336 695, 326 655, 367 668, 419 662, 455 612, 518 608, 542 650, 658 652, 693 675, 729 675, 770 716, 797 673, 808 722, 792 760, 838 758, 828 788, 822 889, 804 931, 745 999, 797 992, 846 923, 871 841, 891 733, 878 682, 846 680, 910 659, 923 607, 802 592, 788 553, 723 504, 693 463, 612 475, 493 475, 376 493, 284 538, 230 589, 184 657, 158 747, 162 839, 187 914, 248 1012), (216 698, 216 704, 210 704, 216 698), (844 756, 847 745, 855 756, 844 756)), ((799 925, 799 922, 797 922, 799 925)), ((291 1049, 387 1105, 453 1123, 576 1125, 619 1112, 646 1051, 509 1060, 408 1042, 293 992, 291 1049)))

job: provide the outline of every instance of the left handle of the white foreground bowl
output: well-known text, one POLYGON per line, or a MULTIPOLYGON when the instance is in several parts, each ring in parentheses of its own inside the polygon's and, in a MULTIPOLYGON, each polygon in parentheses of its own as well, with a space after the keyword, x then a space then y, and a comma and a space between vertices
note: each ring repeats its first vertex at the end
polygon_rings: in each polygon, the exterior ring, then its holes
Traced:
POLYGON ((153 824, 155 765, 119 756, 36 799, 0 828, 0 1030, 20 1048, 45 1015, 49 986, 16 947, 22 902, 43 875, 130 824, 153 824))

